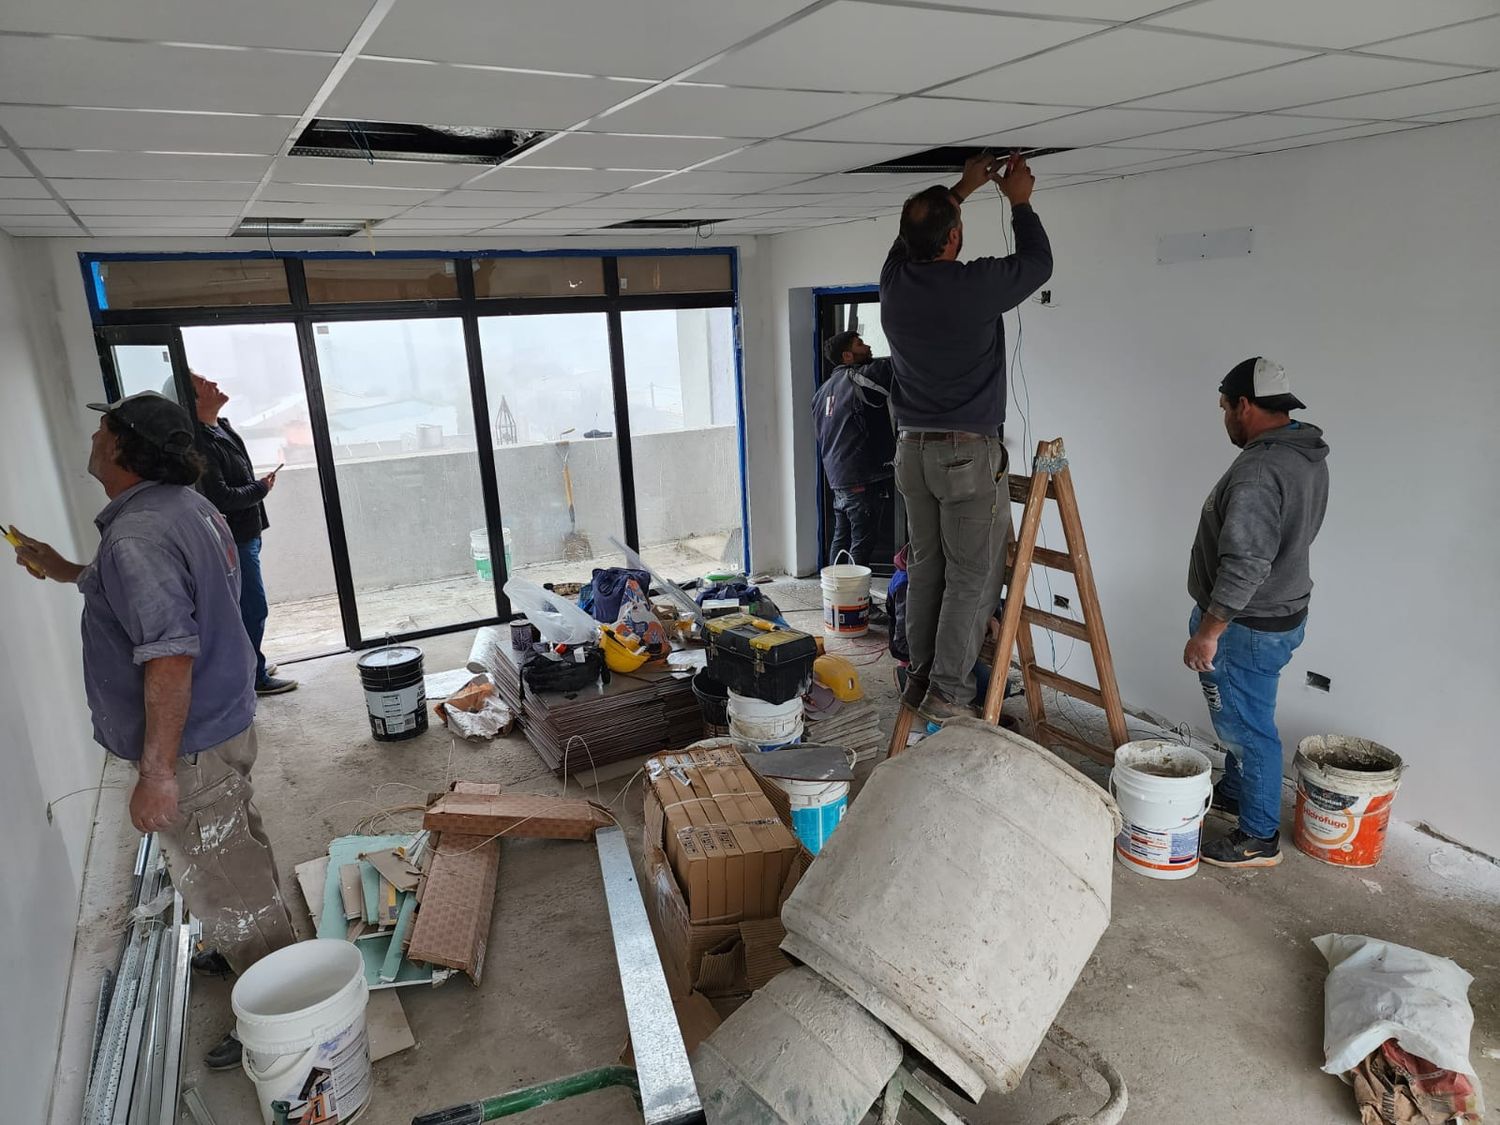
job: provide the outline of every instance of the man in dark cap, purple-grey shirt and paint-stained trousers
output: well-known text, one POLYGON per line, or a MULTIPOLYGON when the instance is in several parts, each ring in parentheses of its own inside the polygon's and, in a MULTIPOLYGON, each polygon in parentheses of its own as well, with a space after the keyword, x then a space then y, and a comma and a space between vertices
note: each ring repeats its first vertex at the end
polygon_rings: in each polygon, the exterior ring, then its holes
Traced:
MULTIPOLYGON (((136 771, 130 824, 156 832, 172 885, 236 972, 296 940, 250 789, 255 651, 224 516, 194 490, 194 424, 154 392, 104 412, 88 472, 110 502, 93 562, 20 536, 16 562, 76 584, 94 738, 136 771)), ((232 1035, 210 1052, 237 1066, 232 1035)))

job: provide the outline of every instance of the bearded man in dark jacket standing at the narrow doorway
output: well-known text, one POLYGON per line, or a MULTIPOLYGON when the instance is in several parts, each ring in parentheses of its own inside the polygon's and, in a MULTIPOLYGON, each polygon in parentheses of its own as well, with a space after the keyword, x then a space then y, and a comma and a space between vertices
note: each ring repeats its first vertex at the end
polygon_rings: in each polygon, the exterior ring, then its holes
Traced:
POLYGON ((824 476, 834 494, 830 562, 848 550, 860 566, 890 562, 894 544, 880 543, 891 512, 891 362, 874 358, 854 330, 830 336, 824 356, 832 375, 813 396, 813 426, 824 476))

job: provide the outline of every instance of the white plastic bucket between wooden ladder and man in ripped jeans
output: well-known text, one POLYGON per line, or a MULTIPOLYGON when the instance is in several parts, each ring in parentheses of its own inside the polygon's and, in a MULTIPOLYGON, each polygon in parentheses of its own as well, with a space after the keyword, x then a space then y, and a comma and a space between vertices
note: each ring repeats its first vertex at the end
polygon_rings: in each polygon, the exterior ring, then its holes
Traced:
POLYGON ((1125 824, 1114 856, 1149 879, 1186 879, 1198 870, 1203 818, 1214 800, 1214 765, 1197 750, 1156 740, 1114 752, 1110 794, 1125 824))

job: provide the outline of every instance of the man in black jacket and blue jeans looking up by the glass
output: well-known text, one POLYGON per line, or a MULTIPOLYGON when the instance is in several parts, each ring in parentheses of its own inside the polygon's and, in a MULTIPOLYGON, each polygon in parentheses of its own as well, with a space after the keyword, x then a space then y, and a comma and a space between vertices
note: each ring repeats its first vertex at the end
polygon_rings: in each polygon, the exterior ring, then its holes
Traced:
POLYGON ((276 488, 276 474, 267 472, 256 480, 244 442, 228 418, 219 417, 224 404, 230 400, 219 384, 194 372, 192 388, 198 408, 196 446, 207 464, 198 488, 224 513, 240 549, 240 616, 244 618, 244 632, 255 646, 255 694, 292 692, 297 681, 276 676, 274 668, 267 668, 266 654, 261 652, 266 618, 270 615, 266 582, 261 578, 261 532, 270 526, 266 496, 276 488))

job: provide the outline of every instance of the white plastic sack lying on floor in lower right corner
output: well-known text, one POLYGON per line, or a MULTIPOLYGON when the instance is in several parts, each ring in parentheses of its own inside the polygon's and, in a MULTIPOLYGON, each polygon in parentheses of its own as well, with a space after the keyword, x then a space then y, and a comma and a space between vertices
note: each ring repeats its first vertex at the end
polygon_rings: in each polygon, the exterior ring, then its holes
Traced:
POLYGON ((1340 1077, 1386 1040, 1443 1070, 1478 1077, 1468 1062, 1468 1006, 1464 969, 1406 945, 1348 933, 1326 933, 1312 944, 1328 960, 1323 986, 1323 1070, 1340 1077))

